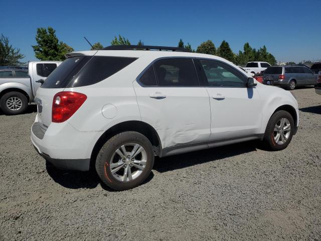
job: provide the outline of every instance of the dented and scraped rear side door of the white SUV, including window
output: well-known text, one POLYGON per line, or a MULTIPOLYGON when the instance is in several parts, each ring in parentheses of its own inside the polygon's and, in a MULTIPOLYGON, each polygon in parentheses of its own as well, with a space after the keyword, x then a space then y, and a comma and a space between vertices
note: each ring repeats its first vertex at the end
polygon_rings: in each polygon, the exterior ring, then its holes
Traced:
POLYGON ((133 84, 141 119, 157 131, 163 148, 209 140, 209 95, 191 58, 160 59, 133 84))

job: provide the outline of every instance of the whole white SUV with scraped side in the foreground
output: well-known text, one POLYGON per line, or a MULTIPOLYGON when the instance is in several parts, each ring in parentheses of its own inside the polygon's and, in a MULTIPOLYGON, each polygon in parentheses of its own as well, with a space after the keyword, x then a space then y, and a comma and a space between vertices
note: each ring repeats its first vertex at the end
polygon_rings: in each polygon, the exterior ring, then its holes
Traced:
POLYGON ((299 122, 289 91, 223 58, 171 47, 70 53, 36 98, 31 140, 39 154, 60 168, 96 168, 117 190, 141 184, 154 156, 254 139, 282 150, 299 122))

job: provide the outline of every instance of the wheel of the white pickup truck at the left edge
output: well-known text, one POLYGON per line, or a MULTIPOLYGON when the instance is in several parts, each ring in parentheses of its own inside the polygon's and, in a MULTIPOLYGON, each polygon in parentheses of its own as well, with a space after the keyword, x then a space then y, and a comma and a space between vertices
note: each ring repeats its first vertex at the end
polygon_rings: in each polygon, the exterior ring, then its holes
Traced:
POLYGON ((20 92, 8 92, 1 97, 0 108, 6 114, 21 114, 28 108, 28 99, 20 92))

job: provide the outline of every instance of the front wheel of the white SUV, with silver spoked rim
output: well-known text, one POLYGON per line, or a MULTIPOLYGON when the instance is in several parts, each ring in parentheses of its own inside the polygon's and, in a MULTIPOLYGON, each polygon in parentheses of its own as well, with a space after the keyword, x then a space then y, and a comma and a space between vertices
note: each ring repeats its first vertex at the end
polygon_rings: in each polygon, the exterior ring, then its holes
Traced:
POLYGON ((285 110, 279 110, 269 119, 263 143, 273 151, 283 150, 291 142, 293 130, 294 121, 292 115, 285 110))

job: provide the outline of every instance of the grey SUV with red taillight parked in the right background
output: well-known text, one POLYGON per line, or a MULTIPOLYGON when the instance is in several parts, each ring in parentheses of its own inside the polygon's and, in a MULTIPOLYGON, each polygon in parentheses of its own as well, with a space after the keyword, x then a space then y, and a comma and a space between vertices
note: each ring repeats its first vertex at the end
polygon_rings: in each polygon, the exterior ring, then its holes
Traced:
POLYGON ((316 84, 316 77, 316 74, 303 66, 271 66, 263 73, 263 83, 293 90, 296 86, 316 84))

